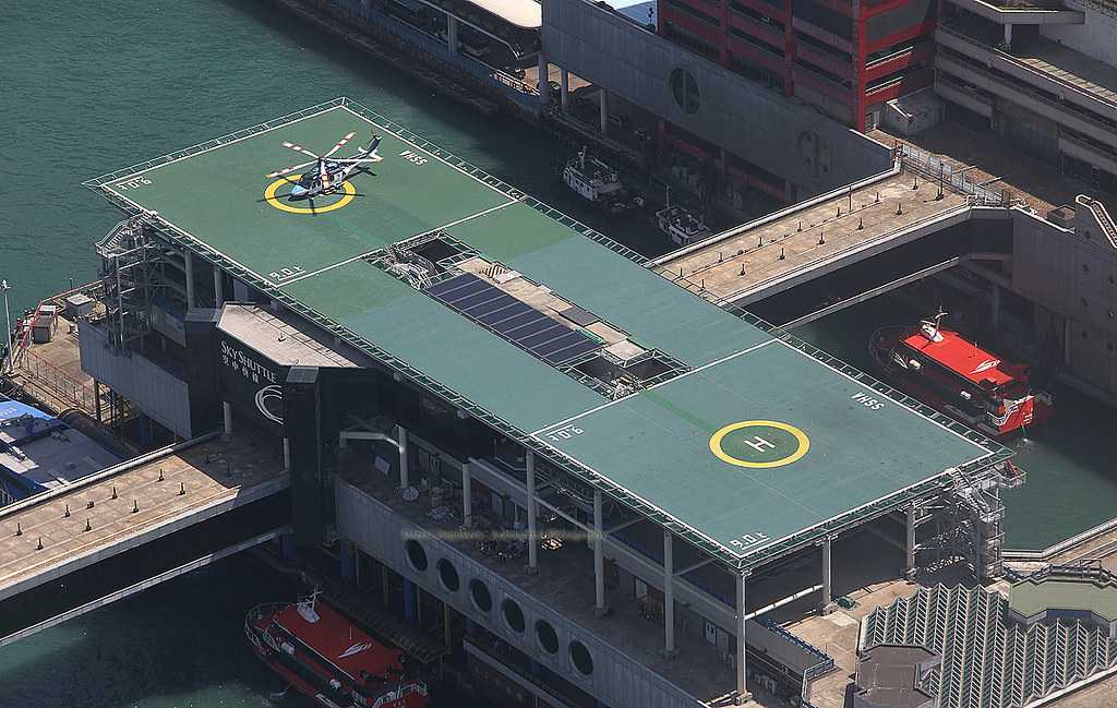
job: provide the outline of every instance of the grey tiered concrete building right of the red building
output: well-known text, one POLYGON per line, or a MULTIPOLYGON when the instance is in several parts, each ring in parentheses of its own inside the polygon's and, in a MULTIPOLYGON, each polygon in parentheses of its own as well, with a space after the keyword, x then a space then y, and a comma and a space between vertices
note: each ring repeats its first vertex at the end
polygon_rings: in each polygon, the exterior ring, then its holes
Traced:
POLYGON ((947 0, 935 32, 935 90, 1009 145, 1114 192, 1114 37, 1117 6, 1106 0, 947 0))

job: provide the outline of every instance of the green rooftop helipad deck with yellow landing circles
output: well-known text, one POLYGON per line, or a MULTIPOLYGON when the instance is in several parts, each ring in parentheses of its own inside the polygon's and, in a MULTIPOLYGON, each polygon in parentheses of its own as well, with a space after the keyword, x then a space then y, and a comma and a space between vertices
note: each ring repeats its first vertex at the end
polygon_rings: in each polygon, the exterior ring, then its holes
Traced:
POLYGON ((716 554, 747 566, 1006 452, 367 109, 338 99, 90 183, 163 232, 716 554), (264 199, 289 141, 383 136, 357 195, 264 199), (344 203, 342 203, 344 202, 344 203), (341 204, 340 207, 337 204, 341 204), (440 231, 677 363, 610 400, 374 265, 440 231), (918 410, 917 410, 918 409, 918 410))

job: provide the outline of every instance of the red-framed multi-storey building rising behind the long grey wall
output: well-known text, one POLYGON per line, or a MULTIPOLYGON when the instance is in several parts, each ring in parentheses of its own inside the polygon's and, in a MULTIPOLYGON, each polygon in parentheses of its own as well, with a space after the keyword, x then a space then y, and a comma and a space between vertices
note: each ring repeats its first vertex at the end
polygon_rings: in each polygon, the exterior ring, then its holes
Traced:
POLYGON ((930 86, 930 0, 663 0, 659 34, 748 78, 872 130, 884 104, 930 86))

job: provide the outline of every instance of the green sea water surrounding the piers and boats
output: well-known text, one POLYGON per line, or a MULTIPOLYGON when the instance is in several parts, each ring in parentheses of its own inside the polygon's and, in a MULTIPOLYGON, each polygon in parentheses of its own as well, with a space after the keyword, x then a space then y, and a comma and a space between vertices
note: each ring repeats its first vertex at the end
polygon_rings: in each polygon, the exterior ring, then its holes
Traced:
MULTIPOLYGON (((637 250, 662 245, 647 226, 582 209, 550 170, 564 153, 536 131, 472 114, 264 0, 8 0, 0 58, 0 277, 15 286, 13 313, 96 277, 92 245, 118 212, 83 180, 340 95, 637 250)), ((897 310, 870 304, 805 334, 857 362, 858 327, 872 318, 897 310)), ((1010 546, 1114 514, 1117 473, 1099 462, 1108 439, 1090 422, 1100 419, 1071 415, 1018 443, 1032 477, 1009 495, 1010 546)), ((276 590, 232 558, 0 649, 0 708, 303 705, 267 698, 274 680, 240 634, 245 609, 276 590)))

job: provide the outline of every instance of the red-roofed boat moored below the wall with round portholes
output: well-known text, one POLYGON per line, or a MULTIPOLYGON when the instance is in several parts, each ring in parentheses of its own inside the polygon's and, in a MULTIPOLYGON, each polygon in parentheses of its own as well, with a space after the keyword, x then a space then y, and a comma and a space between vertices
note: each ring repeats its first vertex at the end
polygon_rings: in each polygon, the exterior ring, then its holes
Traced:
POLYGON ((403 652, 376 642, 317 593, 254 607, 245 634, 273 671, 325 708, 430 705, 427 685, 403 678, 403 652))

